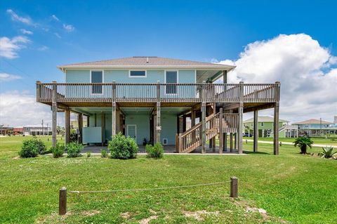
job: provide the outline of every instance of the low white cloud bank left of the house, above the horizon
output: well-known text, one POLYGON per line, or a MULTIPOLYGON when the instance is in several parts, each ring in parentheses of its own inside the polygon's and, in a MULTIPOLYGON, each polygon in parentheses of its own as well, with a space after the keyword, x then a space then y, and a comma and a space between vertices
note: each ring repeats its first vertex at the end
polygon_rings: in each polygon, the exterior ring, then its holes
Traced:
MULTIPOLYGON (((28 93, 0 93, 0 124, 9 126, 51 126, 51 107, 36 102, 34 95, 28 93)), ((58 114, 58 124, 64 124, 64 116, 58 114), (60 116, 61 115, 61 116, 60 116)))

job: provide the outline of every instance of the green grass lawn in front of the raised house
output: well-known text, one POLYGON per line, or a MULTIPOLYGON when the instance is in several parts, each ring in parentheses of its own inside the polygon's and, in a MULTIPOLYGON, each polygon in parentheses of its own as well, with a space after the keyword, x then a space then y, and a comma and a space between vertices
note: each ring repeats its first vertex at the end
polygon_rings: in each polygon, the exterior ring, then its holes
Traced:
MULTIPOLYGON (((260 144, 246 156, 165 156, 127 161, 100 157, 18 159, 24 137, 0 138, 0 223, 336 223, 337 160, 260 144), (239 199, 229 184, 156 192, 68 195, 58 216, 58 190, 112 190, 193 185, 239 178, 239 199), (247 212, 262 208, 267 215, 247 212), (203 213, 202 215, 200 215, 203 213), (146 222, 144 222, 146 223, 146 222)), ((28 138, 28 137, 25 137, 28 138)), ((47 143, 50 145, 50 141, 47 143)), ((314 147, 309 152, 319 152, 314 147)))

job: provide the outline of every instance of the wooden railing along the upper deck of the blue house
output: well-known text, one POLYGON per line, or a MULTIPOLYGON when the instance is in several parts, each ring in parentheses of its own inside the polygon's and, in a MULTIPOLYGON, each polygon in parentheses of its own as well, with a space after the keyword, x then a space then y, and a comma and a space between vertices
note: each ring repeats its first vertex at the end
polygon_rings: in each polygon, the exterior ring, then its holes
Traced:
POLYGON ((276 102, 279 84, 65 84, 37 82, 37 101, 57 102, 276 102))

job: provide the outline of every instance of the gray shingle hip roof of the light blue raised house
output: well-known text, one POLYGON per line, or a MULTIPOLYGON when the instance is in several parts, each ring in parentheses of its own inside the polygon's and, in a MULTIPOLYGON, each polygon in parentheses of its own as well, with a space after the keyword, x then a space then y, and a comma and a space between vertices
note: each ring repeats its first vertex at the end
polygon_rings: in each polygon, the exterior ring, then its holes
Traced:
POLYGON ((180 60, 174 58, 161 57, 130 57, 116 58, 111 60, 98 60, 93 62, 81 62, 68 65, 60 65, 58 68, 76 68, 76 67, 196 67, 196 68, 211 68, 219 70, 232 70, 235 66, 220 65, 209 62, 197 62, 192 60, 180 60))

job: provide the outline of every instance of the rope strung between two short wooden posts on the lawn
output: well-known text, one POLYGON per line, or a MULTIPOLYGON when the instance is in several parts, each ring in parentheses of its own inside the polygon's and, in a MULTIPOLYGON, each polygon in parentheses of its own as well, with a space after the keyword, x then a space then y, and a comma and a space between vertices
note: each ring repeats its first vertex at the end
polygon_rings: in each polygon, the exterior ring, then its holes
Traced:
MULTIPOLYGON (((91 193, 114 193, 114 192, 140 192, 140 191, 152 191, 152 190, 170 190, 170 189, 180 189, 189 187, 200 187, 209 185, 220 185, 224 183, 230 183, 230 197, 238 197, 238 178, 231 177, 228 181, 221 181, 215 183, 201 183, 196 185, 182 185, 173 187, 156 187, 156 188, 139 188, 139 189, 120 189, 120 190, 72 190, 68 193, 72 194, 91 194, 91 193)), ((59 192, 59 203, 58 203, 58 213, 60 215, 65 215, 67 213, 67 188, 62 187, 59 192)))

